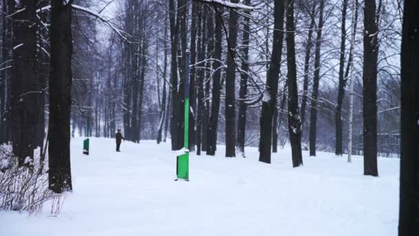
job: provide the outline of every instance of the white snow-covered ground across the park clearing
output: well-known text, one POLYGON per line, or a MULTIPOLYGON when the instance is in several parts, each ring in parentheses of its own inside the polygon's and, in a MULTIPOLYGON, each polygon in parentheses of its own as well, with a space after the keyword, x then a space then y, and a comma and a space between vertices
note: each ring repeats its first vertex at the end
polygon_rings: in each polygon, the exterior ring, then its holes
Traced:
POLYGON ((192 155, 190 181, 174 181, 170 144, 91 139, 90 156, 72 139, 72 194, 58 217, 50 204, 28 216, 0 213, 1 236, 288 235, 396 236, 398 159, 379 159, 380 177, 362 175, 362 159, 319 153, 292 168, 289 149, 272 164, 192 155))

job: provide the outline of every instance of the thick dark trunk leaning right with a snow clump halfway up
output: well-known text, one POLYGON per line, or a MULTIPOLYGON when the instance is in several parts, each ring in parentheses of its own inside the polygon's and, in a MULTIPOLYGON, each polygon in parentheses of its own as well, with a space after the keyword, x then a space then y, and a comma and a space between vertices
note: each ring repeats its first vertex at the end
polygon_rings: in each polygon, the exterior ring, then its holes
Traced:
POLYGON ((269 70, 267 71, 266 88, 262 101, 262 114, 260 115, 259 161, 269 164, 271 163, 272 123, 276 107, 276 93, 278 92, 280 59, 283 51, 284 10, 283 0, 275 0, 274 43, 272 45, 269 70))

